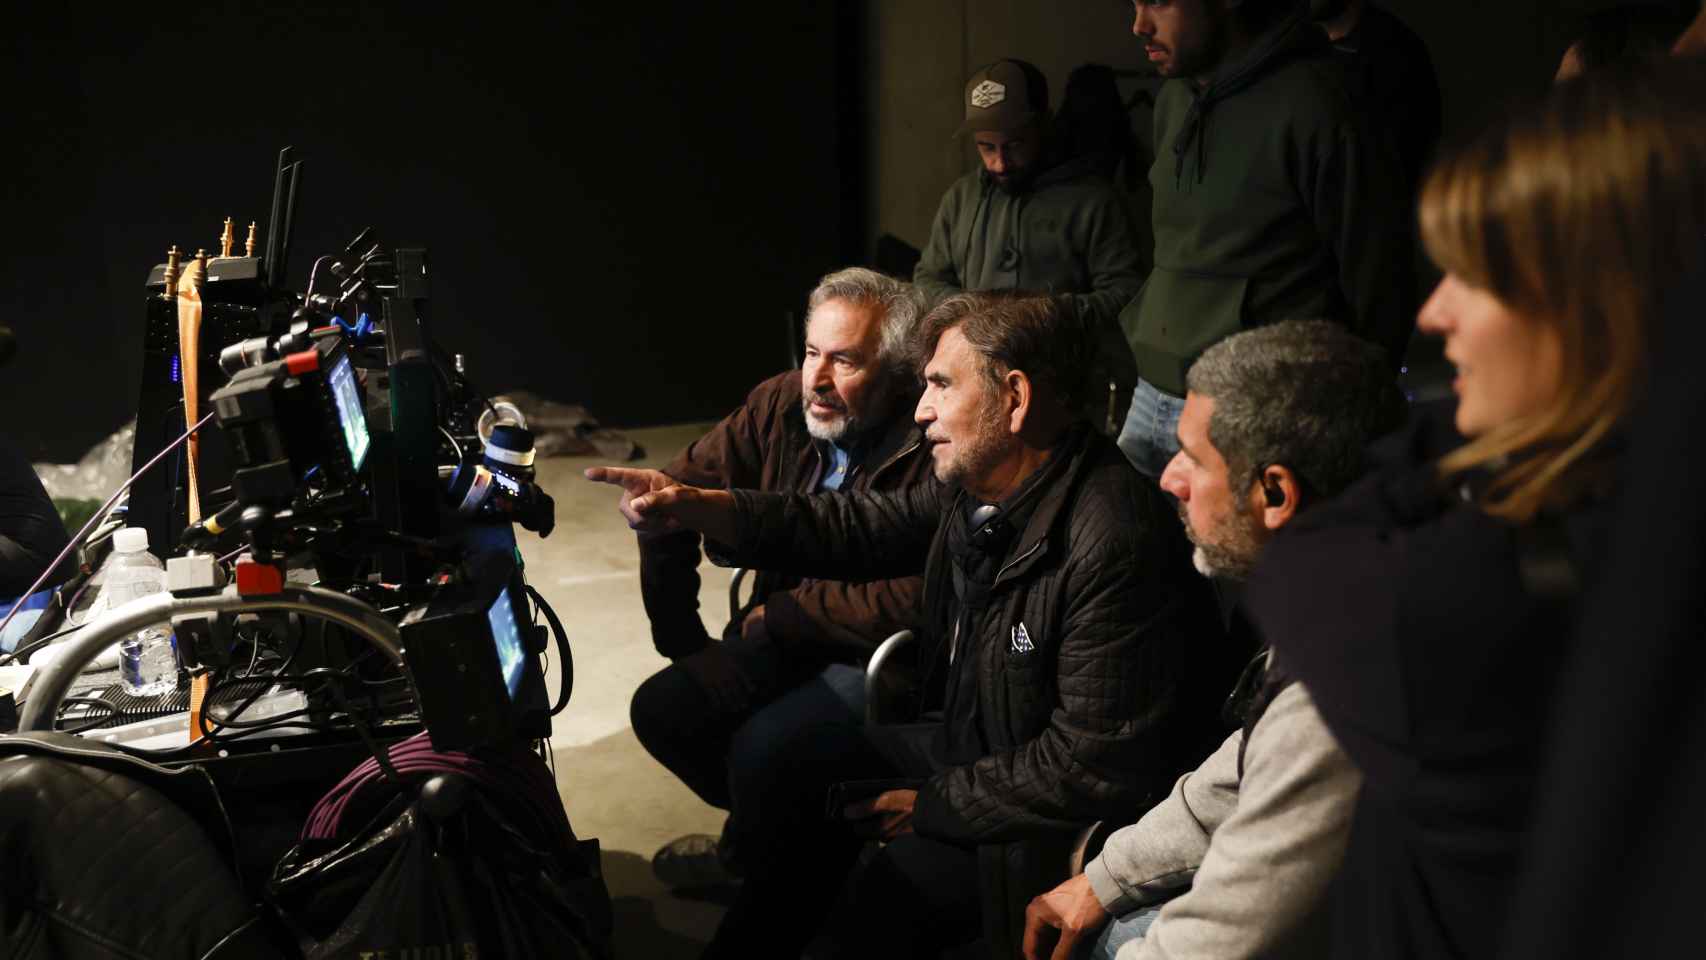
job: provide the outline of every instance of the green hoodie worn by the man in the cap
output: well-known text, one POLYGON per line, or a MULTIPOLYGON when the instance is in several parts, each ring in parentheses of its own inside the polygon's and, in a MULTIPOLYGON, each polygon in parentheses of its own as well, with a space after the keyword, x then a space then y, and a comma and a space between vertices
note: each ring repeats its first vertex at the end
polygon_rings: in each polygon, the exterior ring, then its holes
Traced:
POLYGON ((1117 317, 1143 283, 1138 240, 1119 193, 1085 160, 1056 164, 1017 194, 981 167, 955 181, 913 283, 931 307, 962 290, 1070 293, 1099 334, 1105 373, 1136 382, 1117 317))

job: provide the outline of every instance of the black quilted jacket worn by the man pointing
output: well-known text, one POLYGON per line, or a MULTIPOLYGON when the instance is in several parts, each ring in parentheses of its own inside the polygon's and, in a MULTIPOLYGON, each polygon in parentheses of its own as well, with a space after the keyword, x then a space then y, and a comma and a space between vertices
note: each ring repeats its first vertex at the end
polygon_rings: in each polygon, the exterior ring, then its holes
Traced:
MULTIPOLYGON (((989 752, 930 779, 913 820, 921 836, 979 846, 986 938, 1003 957, 1018 953, 1029 899, 1065 880, 1078 832, 1160 800, 1220 738, 1220 694, 1237 674, 1160 491, 1088 431, 1059 455, 1071 462, 1015 537, 955 656, 967 663, 966 645, 978 645, 989 752)), ((935 592, 954 588, 942 520, 960 496, 938 486, 735 491, 742 539, 728 552, 814 576, 923 573, 930 609, 935 592)), ((925 639, 926 668, 947 668, 947 639, 925 639)))

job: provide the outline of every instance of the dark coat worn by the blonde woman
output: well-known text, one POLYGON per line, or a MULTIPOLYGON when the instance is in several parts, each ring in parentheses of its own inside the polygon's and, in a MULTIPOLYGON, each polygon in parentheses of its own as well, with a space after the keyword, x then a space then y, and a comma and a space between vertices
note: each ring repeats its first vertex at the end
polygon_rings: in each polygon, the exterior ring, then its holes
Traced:
POLYGON ((1332 957, 1494 957, 1534 808, 1595 498, 1523 525, 1443 484, 1448 411, 1269 544, 1245 604, 1363 771, 1332 957))

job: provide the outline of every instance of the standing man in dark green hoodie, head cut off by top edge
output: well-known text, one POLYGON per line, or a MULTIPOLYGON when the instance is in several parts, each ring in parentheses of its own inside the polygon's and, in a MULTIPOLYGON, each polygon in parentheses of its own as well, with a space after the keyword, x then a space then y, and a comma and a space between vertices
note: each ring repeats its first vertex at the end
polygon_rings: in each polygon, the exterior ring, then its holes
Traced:
POLYGON ((1414 326, 1413 201, 1302 0, 1136 0, 1155 104, 1155 268, 1119 322, 1141 377, 1119 447, 1158 477, 1215 343, 1327 317, 1394 361, 1414 326))

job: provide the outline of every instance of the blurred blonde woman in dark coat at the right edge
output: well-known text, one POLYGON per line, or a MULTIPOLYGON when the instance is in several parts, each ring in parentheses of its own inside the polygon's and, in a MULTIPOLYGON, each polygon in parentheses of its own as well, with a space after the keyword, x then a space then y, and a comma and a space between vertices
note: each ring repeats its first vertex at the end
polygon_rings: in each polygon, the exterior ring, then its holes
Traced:
POLYGON ((1334 957, 1498 955, 1648 331, 1706 242, 1703 92, 1699 65, 1607 68, 1442 157, 1418 324, 1455 409, 1418 411, 1250 580, 1365 776, 1334 957))

